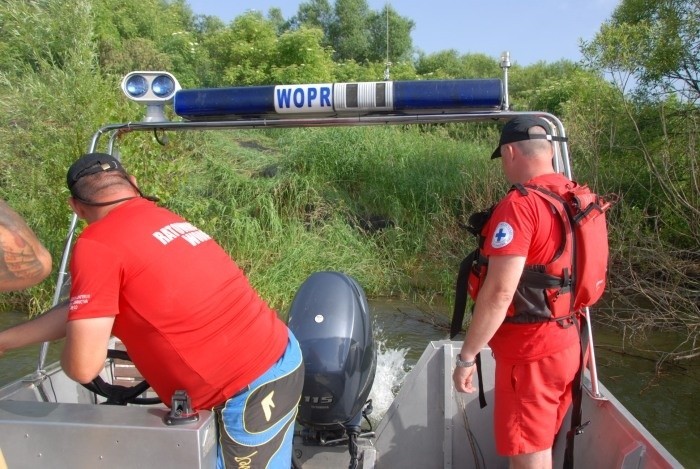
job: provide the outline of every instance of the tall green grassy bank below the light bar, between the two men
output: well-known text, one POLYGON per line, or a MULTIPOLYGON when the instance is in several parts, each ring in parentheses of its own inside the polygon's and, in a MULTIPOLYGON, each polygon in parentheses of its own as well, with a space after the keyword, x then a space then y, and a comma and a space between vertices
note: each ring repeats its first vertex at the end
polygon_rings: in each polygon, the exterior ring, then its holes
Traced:
POLYGON ((505 187, 485 145, 444 132, 218 132, 168 205, 218 239, 280 310, 318 270, 346 272, 370 296, 429 299, 451 291, 473 244, 458 223, 505 187))

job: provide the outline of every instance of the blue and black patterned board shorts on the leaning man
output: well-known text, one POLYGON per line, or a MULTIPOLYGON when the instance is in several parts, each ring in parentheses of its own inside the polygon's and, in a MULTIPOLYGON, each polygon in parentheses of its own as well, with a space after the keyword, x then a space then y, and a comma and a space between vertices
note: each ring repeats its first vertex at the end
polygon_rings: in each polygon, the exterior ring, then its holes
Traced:
POLYGON ((294 335, 262 376, 218 407, 217 469, 289 468, 304 362, 294 335))

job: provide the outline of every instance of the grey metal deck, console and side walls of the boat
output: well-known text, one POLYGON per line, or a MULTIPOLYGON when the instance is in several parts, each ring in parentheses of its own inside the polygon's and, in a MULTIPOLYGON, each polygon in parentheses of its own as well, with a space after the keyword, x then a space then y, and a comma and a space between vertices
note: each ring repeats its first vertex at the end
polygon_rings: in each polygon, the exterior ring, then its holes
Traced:
MULTIPOLYGON (((428 345, 375 436, 359 442, 360 467, 508 467, 492 437, 493 359, 488 350, 482 354, 489 406, 481 409, 476 393, 454 392, 452 366, 460 347, 461 342, 451 341, 428 345)), ((584 421, 591 423, 576 438, 578 467, 682 467, 603 386, 601 392, 605 398, 584 394, 584 421)), ((0 389, 0 449, 8 467, 215 467, 211 413, 200 412, 197 422, 167 426, 162 405, 96 402, 58 365, 0 389)), ((561 466, 563 452, 559 437, 555 467, 561 466)), ((307 446, 301 437, 295 437, 294 455, 304 469, 347 467, 350 461, 346 445, 307 446)))

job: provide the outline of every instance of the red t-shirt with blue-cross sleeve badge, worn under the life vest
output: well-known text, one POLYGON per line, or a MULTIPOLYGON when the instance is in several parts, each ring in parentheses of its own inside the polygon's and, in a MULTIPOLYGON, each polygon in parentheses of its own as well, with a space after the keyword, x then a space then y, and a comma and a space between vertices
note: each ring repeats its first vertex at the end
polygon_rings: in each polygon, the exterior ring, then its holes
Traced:
MULTIPOLYGON (((556 187, 568 182, 561 174, 546 174, 527 184, 556 187)), ((554 209, 541 197, 510 191, 496 205, 484 228, 482 253, 487 257, 524 256, 527 265, 547 264, 561 246, 561 223, 554 209)), ((505 322, 489 345, 496 358, 528 362, 563 350, 578 340, 573 326, 563 329, 555 322, 505 322)))

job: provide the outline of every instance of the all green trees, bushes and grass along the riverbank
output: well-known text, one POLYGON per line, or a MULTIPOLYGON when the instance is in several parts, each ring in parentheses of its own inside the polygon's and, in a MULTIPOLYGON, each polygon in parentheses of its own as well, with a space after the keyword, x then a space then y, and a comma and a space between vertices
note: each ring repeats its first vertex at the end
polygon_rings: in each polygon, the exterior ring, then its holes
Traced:
MULTIPOLYGON (((624 0, 582 44, 584 63, 514 58, 509 76, 513 109, 564 122, 575 177, 621 197, 596 320, 637 343, 656 329, 680 333, 668 358, 700 353, 698 18, 697 2, 624 0)), ((141 117, 119 91, 129 71, 169 70, 183 87, 501 74, 498 58, 416 51, 410 18, 364 0, 311 0, 292 18, 273 9, 230 24, 182 0, 8 0, 0 24, 0 197, 35 228, 54 270, 70 219, 66 169, 101 125, 141 117)), ((120 139, 125 165, 218 239, 282 314, 309 274, 335 269, 370 296, 433 304, 447 323, 456 269, 475 243, 462 227, 507 188, 487 158, 494 125, 168 139, 120 139)), ((55 278, 4 295, 3 309, 44 310, 55 278)))

